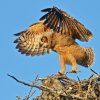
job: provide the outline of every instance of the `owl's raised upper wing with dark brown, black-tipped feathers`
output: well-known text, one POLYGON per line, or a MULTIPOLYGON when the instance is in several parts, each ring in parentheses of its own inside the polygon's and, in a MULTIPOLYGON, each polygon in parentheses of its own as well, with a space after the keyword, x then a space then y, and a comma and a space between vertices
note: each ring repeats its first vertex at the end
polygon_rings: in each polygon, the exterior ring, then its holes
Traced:
POLYGON ((81 41, 92 38, 92 33, 83 24, 57 7, 43 9, 42 12, 47 12, 47 14, 40 20, 44 20, 44 24, 54 31, 69 34, 73 39, 81 41))

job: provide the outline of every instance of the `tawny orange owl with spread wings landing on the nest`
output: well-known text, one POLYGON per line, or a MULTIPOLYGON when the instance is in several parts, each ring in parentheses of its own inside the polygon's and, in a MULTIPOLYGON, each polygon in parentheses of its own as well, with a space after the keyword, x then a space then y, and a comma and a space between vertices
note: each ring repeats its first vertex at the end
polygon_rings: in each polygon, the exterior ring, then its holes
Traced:
POLYGON ((79 72, 77 65, 90 67, 94 62, 92 48, 82 48, 75 41, 89 41, 92 33, 79 21, 57 7, 43 9, 46 12, 40 21, 28 29, 16 33, 16 48, 27 56, 44 55, 54 51, 59 54, 60 74, 66 71, 66 64, 72 65, 69 72, 79 72))

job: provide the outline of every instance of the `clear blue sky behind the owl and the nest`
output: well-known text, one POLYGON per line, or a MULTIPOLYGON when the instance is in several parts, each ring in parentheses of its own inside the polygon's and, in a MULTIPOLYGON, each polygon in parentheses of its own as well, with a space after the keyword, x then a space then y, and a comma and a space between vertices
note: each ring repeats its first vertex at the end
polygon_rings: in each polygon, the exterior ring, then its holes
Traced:
MULTIPOLYGON (((100 0, 0 0, 0 98, 16 100, 16 96, 25 97, 29 88, 18 84, 7 76, 7 73, 18 79, 31 82, 37 75, 44 77, 57 73, 60 69, 58 55, 27 57, 15 49, 13 34, 26 29, 39 21, 43 15, 41 9, 57 6, 67 11, 71 16, 82 22, 93 33, 93 39, 78 43, 82 47, 92 47, 95 51, 95 62, 91 67, 100 73, 100 0)), ((68 70, 70 66, 66 66, 68 70)), ((91 75, 89 69, 78 66, 82 72, 69 74, 76 79, 87 78, 91 75)), ((38 93, 34 94, 34 97, 38 93)))

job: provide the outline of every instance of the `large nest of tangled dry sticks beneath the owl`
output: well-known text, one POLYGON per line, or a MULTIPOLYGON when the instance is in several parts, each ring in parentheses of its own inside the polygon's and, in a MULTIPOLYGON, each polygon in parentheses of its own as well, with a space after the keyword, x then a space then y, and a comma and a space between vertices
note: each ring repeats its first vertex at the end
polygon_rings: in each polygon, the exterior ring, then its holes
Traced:
MULTIPOLYGON (((93 71, 93 70, 92 70, 93 71)), ((66 75, 47 76, 45 78, 36 78, 32 84, 23 82, 8 75, 17 82, 31 87, 28 96, 18 100, 100 100, 100 75, 93 71, 93 74, 84 80, 73 80, 66 75), (40 96, 33 98, 32 88, 41 90, 40 96)))

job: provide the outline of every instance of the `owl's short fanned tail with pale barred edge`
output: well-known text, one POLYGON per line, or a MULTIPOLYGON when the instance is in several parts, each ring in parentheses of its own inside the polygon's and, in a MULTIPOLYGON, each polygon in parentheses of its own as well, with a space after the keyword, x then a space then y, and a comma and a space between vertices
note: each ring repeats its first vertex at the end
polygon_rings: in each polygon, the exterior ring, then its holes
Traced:
POLYGON ((94 51, 92 48, 83 48, 84 52, 85 52, 85 56, 83 58, 83 60, 81 61, 80 65, 84 66, 84 67, 90 67, 93 62, 94 62, 94 51))

